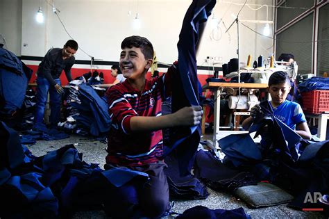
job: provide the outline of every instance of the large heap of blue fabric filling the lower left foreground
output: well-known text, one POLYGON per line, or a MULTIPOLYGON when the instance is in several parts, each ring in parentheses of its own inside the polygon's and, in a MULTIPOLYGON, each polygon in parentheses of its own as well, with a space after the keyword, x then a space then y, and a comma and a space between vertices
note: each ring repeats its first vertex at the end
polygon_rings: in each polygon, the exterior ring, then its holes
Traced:
POLYGON ((0 136, 0 218, 69 218, 74 211, 102 209, 114 186, 148 179, 144 172, 85 163, 74 145, 33 156, 3 122, 0 136))

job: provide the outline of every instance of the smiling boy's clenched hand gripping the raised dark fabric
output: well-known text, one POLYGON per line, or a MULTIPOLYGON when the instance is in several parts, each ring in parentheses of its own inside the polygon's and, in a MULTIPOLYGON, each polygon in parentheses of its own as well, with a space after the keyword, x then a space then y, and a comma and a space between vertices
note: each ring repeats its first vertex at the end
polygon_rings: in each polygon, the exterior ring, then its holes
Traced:
POLYGON ((201 106, 185 106, 174 114, 179 126, 194 126, 200 124, 203 111, 201 106))

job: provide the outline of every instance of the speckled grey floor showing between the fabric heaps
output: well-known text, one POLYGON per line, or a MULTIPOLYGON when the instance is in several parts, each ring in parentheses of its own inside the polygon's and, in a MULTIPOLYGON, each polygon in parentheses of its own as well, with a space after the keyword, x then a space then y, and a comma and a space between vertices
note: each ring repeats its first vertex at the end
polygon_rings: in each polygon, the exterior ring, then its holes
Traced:
MULTIPOLYGON (((37 141, 35 145, 28 146, 31 152, 35 156, 42 156, 47 152, 56 150, 67 144, 77 143, 76 148, 78 152, 83 153, 83 160, 87 163, 99 163, 103 168, 106 157, 106 144, 99 142, 98 140, 92 140, 82 136, 71 136, 70 138, 54 141, 37 141)), ((175 201, 172 211, 183 213, 186 209, 192 208, 196 205, 207 206, 209 209, 237 209, 243 207, 244 211, 248 213, 252 218, 323 218, 321 213, 317 212, 303 212, 294 211, 287 208, 287 204, 279 206, 272 206, 261 209, 249 209, 242 200, 237 200, 233 195, 228 193, 216 192, 208 188, 210 193, 206 200, 189 200, 189 201, 175 201)), ((103 211, 84 211, 77 212, 74 215, 74 219, 85 218, 106 218, 103 211)), ((169 216, 166 218, 174 218, 169 216)))

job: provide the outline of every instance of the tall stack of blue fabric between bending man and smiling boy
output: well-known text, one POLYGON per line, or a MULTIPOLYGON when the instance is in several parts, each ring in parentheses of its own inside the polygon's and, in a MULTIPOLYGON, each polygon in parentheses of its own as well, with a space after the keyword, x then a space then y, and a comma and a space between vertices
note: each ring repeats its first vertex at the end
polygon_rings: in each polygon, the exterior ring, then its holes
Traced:
POLYGON ((94 88, 83 80, 71 82, 67 88, 67 121, 60 124, 65 129, 86 136, 101 136, 110 130, 108 103, 94 88))

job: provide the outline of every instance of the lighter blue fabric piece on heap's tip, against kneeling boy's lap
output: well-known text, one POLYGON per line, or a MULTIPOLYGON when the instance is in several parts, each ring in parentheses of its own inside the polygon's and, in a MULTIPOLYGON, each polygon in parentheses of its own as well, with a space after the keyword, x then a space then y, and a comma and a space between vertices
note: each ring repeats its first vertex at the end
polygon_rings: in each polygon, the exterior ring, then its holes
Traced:
POLYGON ((149 178, 145 172, 129 170, 128 168, 111 168, 102 172, 102 175, 116 187, 123 186, 135 177, 149 178))

